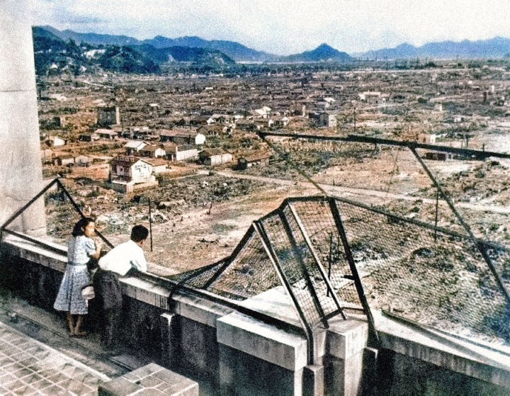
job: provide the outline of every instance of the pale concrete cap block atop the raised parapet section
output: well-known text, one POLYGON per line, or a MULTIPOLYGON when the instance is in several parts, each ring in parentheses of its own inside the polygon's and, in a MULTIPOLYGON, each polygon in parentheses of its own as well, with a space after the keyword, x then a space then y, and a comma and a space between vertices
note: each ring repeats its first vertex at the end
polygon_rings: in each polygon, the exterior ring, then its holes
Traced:
POLYGON ((305 336, 285 332, 239 312, 218 319, 217 341, 288 370, 307 366, 305 336))

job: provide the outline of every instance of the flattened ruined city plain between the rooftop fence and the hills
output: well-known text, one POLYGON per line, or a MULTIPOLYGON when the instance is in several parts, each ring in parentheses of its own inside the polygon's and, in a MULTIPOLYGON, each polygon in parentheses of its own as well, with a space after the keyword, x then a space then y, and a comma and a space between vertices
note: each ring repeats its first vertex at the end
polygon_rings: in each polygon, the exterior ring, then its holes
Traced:
MULTIPOLYGON (((288 134, 509 153, 509 66, 39 76, 44 176, 60 177, 113 243, 151 210, 148 255, 159 274, 222 259, 284 198, 324 189, 433 222, 436 189, 409 150, 288 134)), ((475 234, 508 244, 508 158, 419 154, 475 234)), ((67 214, 47 210, 48 234, 62 240, 67 214)))

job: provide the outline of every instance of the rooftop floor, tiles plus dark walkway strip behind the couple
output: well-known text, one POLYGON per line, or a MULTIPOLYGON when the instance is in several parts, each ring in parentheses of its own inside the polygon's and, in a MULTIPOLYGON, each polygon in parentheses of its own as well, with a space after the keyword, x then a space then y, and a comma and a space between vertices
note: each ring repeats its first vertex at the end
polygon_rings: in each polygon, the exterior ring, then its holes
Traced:
POLYGON ((106 351, 98 334, 70 337, 57 312, 0 291, 1 395, 97 395, 101 381, 149 363, 106 351))

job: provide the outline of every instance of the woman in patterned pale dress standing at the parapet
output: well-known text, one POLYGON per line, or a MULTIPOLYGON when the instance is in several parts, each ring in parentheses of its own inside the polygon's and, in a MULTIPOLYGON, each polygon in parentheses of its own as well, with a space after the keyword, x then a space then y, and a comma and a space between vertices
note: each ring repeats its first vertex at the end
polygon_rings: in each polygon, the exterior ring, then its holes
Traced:
POLYGON ((91 283, 87 263, 91 258, 98 259, 101 243, 92 239, 96 234, 96 223, 91 217, 83 217, 74 225, 72 237, 67 246, 67 266, 64 278, 53 307, 67 312, 67 324, 71 336, 85 336, 81 330, 83 315, 89 313, 87 301, 81 295, 81 289, 91 283), (74 316, 77 316, 74 324, 74 316))

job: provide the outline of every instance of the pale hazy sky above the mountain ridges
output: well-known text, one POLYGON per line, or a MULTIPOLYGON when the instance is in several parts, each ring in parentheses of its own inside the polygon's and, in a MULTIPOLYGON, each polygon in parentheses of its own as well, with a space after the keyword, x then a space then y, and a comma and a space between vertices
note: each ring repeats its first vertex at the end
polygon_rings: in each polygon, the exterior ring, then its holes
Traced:
MULTIPOLYGON (((0 0, 33 25, 138 39, 196 35, 290 55, 510 38, 509 0, 0 0)), ((3 11, 2 11, 3 10, 3 11)))

